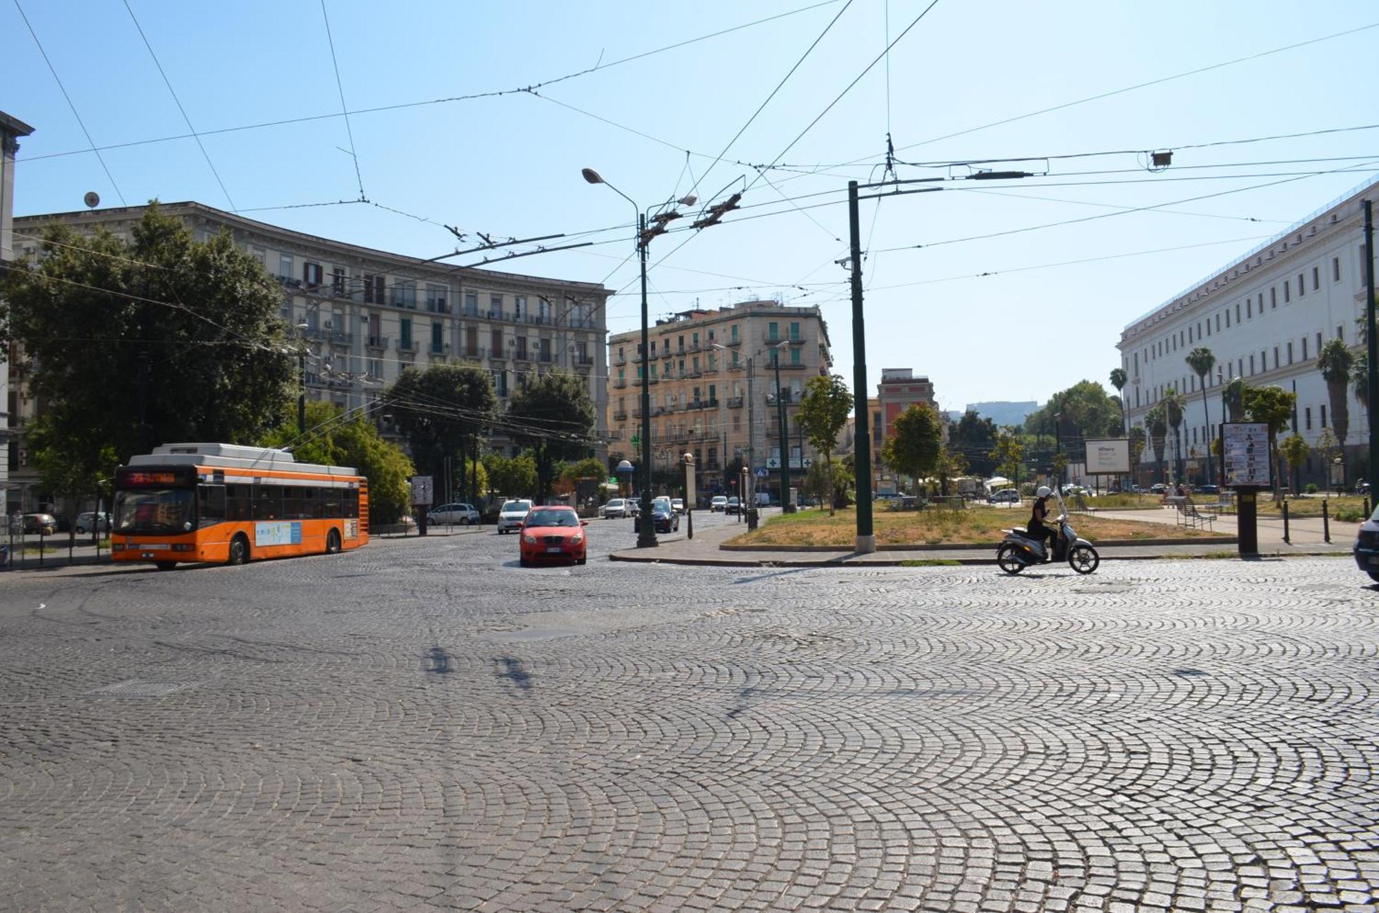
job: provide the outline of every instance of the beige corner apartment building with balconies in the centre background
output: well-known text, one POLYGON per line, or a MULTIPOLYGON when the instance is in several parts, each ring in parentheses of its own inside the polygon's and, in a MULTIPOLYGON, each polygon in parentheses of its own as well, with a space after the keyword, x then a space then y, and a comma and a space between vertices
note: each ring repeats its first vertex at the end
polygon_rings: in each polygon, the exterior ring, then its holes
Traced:
MULTIPOLYGON (((812 459, 796 411, 804 383, 829 374, 829 330, 818 308, 747 301, 717 310, 687 310, 658 320, 650 331, 650 361, 641 359, 641 330, 610 337, 610 451, 636 462, 632 439, 641 433, 641 371, 651 386, 651 458, 670 469, 695 456, 703 492, 736 494, 724 469, 735 459, 753 470, 753 485, 779 492, 781 432, 776 361, 786 404, 792 472, 812 459), (764 474, 758 476, 758 470, 764 474)), ((797 481, 792 485, 798 487, 797 481)))

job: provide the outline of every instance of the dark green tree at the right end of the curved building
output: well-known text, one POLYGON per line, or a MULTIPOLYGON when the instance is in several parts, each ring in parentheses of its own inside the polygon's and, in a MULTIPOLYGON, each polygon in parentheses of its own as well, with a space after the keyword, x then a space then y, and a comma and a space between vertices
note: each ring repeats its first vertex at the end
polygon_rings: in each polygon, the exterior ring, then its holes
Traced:
POLYGON ((507 405, 513 437, 527 444, 536 462, 536 499, 550 492, 552 469, 563 459, 586 456, 594 426, 594 404, 585 381, 556 370, 525 375, 507 405))

